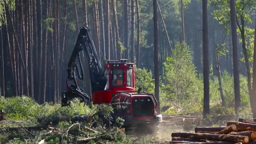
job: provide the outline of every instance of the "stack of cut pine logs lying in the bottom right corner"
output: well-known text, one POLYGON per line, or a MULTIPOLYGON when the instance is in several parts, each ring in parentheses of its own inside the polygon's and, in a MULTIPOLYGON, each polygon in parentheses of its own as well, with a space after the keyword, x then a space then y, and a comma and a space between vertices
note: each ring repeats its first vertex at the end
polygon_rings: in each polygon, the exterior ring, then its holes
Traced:
POLYGON ((256 119, 227 121, 227 126, 196 127, 195 133, 172 133, 170 144, 256 144, 256 119))

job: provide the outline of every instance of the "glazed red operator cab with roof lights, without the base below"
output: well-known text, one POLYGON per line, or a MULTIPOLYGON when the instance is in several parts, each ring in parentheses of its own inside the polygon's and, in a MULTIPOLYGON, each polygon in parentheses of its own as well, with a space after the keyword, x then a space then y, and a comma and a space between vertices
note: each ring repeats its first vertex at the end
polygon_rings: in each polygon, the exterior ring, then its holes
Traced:
POLYGON ((107 77, 105 90, 135 90, 134 63, 129 63, 127 59, 106 60, 105 76, 107 77))

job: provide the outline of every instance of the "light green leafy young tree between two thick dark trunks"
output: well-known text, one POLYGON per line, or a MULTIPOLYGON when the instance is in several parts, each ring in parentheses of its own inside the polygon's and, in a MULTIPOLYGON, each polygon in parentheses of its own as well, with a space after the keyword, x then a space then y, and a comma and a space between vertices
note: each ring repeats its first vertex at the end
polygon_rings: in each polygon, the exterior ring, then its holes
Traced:
POLYGON ((198 79, 189 46, 186 43, 177 42, 173 49, 173 56, 167 58, 164 66, 167 99, 171 99, 176 104, 176 109, 179 109, 184 101, 195 98, 195 93, 198 92, 195 87, 198 79))

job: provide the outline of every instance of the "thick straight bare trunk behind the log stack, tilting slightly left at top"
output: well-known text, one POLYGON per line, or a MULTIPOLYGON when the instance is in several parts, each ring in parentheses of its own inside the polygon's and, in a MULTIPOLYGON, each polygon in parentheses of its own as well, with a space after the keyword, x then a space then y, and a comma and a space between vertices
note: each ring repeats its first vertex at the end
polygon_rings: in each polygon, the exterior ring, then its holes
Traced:
POLYGON ((239 112, 241 106, 240 98, 240 80, 239 80, 239 64, 237 52, 237 25, 236 25, 236 11, 235 0, 230 0, 230 13, 231 13, 231 32, 232 32, 232 47, 233 47, 233 70, 234 70, 234 93, 235 93, 235 111, 239 112))

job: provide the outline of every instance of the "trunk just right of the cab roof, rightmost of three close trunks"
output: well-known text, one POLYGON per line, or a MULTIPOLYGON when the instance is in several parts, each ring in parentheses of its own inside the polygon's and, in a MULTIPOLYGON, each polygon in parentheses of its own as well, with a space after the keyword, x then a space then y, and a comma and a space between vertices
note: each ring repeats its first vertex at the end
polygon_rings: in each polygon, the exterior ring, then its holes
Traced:
POLYGON ((140 35, 141 35, 141 20, 139 16, 139 0, 136 0, 136 13, 137 13, 137 48, 136 48, 136 66, 140 66, 140 35))

